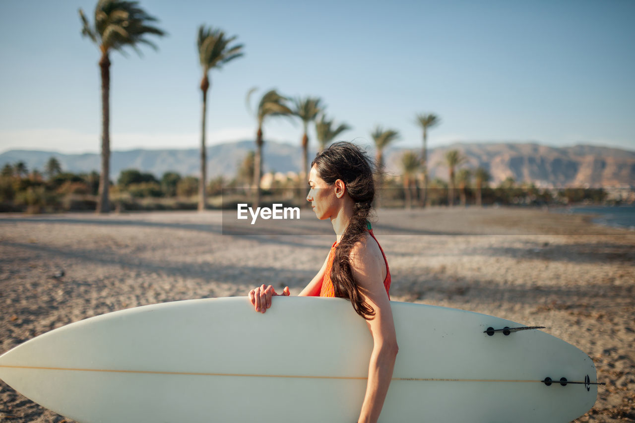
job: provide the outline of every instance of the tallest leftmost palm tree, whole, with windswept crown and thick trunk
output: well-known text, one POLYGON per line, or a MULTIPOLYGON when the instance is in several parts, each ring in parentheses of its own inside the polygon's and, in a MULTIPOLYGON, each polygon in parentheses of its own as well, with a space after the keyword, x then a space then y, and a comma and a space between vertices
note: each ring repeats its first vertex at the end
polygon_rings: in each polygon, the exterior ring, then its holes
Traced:
POLYGON ((102 173, 99 180, 99 194, 97 212, 108 213, 110 210, 108 190, 110 173, 110 50, 116 50, 125 55, 123 48, 130 46, 139 55, 141 51, 137 44, 148 44, 154 50, 154 43, 145 38, 146 34, 163 36, 165 32, 149 23, 155 22, 138 7, 136 1, 99 0, 95 7, 95 26, 91 27, 84 11, 79 9, 79 17, 83 22, 82 35, 89 37, 97 44, 102 57, 99 67, 102 76, 102 173))

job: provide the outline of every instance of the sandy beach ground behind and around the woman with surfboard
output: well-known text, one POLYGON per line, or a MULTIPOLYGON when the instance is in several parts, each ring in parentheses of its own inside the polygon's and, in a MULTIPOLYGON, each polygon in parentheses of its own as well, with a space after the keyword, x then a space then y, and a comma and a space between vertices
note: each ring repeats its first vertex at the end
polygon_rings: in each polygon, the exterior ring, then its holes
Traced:
MULTIPOLYGON (((311 213, 311 211, 303 211, 311 213)), ((635 421, 635 231, 536 209, 380 210, 392 300, 510 319, 586 352, 594 408, 577 422, 635 421)), ((68 323, 173 300, 297 294, 335 236, 222 234, 219 211, 0 215, 0 354, 68 323)), ((66 422, 0 382, 0 421, 66 422)))

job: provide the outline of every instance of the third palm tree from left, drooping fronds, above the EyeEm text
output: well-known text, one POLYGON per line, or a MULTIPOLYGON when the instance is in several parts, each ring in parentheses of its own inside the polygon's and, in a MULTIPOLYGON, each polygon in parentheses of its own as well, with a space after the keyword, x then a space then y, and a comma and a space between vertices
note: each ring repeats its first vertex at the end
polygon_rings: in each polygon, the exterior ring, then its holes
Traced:
MULTIPOLYGON (((247 105, 250 104, 251 94, 257 90, 251 88, 247 93, 247 105)), ((258 109, 256 110, 256 119, 258 121, 258 131, 256 133, 256 154, 253 159, 253 185, 255 187, 253 206, 260 205, 260 178, 262 178, 262 125, 268 116, 291 116, 293 112, 286 105, 288 98, 283 97, 276 90, 269 90, 260 98, 258 109)))

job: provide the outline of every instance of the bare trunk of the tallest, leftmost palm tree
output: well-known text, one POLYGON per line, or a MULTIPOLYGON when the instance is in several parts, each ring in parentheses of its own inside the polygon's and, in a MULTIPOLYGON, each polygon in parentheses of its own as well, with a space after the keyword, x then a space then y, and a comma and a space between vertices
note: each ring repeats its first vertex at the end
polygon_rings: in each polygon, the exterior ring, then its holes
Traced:
POLYGON ((110 211, 110 60, 108 53, 102 54, 99 61, 102 72, 102 173, 99 177, 97 194, 97 213, 110 211))

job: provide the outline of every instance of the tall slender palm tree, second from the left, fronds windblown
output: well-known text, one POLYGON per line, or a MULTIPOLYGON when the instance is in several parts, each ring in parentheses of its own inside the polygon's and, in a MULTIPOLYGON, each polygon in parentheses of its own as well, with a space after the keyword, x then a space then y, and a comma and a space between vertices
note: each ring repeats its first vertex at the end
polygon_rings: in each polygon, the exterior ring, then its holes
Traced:
POLYGON ((225 32, 212 27, 205 28, 204 25, 199 27, 197 37, 197 48, 199 53, 199 62, 203 67, 203 79, 201 79, 201 91, 203 92, 203 124, 201 125, 201 177, 199 178, 199 205, 198 210, 205 210, 206 190, 205 181, 207 180, 207 162, 205 151, 205 120, 207 110, 207 91, 210 89, 210 79, 208 74, 210 69, 221 69, 224 64, 230 60, 243 55, 243 44, 233 43, 236 36, 225 37, 225 32))

